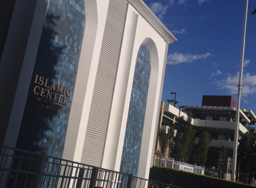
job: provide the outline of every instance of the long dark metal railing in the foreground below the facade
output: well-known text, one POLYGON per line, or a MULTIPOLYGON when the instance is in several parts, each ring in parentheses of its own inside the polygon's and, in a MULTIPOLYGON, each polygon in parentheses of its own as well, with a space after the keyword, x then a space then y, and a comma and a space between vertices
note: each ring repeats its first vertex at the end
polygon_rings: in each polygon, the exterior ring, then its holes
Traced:
POLYGON ((0 188, 179 188, 83 163, 0 146, 0 188))

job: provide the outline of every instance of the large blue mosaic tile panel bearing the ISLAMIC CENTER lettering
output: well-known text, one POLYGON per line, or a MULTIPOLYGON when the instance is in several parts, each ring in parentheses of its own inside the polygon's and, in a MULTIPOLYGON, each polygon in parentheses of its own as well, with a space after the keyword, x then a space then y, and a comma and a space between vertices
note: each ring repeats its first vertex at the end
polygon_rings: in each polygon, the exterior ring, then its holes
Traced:
POLYGON ((49 1, 17 148, 62 157, 84 27, 84 0, 49 1))

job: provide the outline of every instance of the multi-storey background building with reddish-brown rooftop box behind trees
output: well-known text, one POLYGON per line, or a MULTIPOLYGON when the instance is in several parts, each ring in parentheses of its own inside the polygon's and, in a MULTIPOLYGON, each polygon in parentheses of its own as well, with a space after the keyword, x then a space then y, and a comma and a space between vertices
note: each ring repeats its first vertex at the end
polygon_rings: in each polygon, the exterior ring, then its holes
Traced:
MULTIPOLYGON (((231 175, 232 170, 232 156, 234 149, 234 135, 235 135, 235 99, 231 96, 212 96, 204 95, 202 98, 202 106, 185 106, 185 109, 192 114, 191 124, 194 128, 203 132, 206 131, 210 136, 210 151, 208 153, 207 166, 215 166, 218 161, 218 151, 220 148, 227 149, 227 161, 225 161, 224 169, 226 174, 231 175), (207 105, 207 106, 205 106, 207 105)), ((256 115, 252 110, 240 109, 239 110, 239 138, 248 131, 255 132, 256 115)), ((168 126, 164 125, 163 119, 168 119, 172 123, 181 116, 187 117, 182 110, 177 109, 171 104, 162 102, 160 111, 159 127, 168 130, 168 126)), ((160 149, 159 143, 156 144, 155 149, 160 149)), ((165 153, 168 156, 168 149, 165 153)), ((230 179, 231 176, 226 176, 230 179)))

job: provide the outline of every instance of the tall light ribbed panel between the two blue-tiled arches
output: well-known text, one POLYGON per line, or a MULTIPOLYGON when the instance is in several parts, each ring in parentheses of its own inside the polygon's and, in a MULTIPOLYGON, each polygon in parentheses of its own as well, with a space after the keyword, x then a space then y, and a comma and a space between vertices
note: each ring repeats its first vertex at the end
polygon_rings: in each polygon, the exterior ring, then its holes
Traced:
POLYGON ((101 54, 84 140, 82 163, 101 167, 126 18, 126 0, 109 0, 101 54))

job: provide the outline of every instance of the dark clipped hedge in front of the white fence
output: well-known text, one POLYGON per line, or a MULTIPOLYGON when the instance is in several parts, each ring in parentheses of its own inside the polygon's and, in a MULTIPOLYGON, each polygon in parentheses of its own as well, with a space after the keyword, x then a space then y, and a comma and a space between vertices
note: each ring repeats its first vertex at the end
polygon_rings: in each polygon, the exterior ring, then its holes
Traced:
POLYGON ((156 166, 150 169, 149 180, 182 188, 256 188, 248 184, 156 166))

